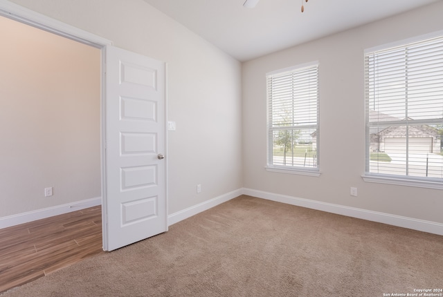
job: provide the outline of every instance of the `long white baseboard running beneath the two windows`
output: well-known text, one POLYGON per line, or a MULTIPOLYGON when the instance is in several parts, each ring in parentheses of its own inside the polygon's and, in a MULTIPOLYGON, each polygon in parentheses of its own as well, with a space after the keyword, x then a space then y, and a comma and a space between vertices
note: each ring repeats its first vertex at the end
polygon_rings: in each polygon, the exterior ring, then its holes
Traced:
POLYGON ((390 213, 380 213, 377 211, 368 211, 365 209, 357 209, 354 207, 345 207, 339 204, 296 198, 287 195, 257 191, 253 189, 244 188, 242 193, 244 195, 250 195, 257 198, 296 205, 298 207, 306 207, 309 209, 316 209, 318 211, 327 211, 329 213, 346 215, 352 218, 370 220, 372 222, 381 222, 383 224, 390 224, 397 227, 403 227, 417 231, 424 231, 437 235, 443 235, 443 224, 438 222, 418 220, 415 218, 408 218, 400 215, 392 215, 390 213))

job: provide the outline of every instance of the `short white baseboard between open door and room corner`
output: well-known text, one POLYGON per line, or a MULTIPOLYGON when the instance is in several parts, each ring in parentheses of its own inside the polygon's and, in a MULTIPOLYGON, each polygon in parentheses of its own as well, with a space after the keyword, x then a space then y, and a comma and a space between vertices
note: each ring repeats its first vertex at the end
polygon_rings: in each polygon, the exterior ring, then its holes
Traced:
POLYGON ((190 218, 192 217, 192 215, 196 215, 197 213, 201 213, 202 211, 207 211, 208 209, 216 207, 218 204, 227 202, 233 198, 236 198, 239 195, 242 195, 242 189, 237 189, 224 195, 220 195, 211 200, 201 202, 193 207, 188 207, 187 209, 183 209, 182 211, 177 211, 177 213, 172 213, 168 215, 168 226, 180 222, 181 220, 190 218))

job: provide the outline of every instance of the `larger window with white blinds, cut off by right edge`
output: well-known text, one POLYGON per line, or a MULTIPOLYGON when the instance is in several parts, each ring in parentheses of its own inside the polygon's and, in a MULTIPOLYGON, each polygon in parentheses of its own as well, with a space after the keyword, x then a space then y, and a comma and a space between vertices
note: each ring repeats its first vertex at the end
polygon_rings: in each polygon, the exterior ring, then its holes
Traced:
POLYGON ((443 37, 365 52, 365 110, 366 175, 441 183, 443 37))

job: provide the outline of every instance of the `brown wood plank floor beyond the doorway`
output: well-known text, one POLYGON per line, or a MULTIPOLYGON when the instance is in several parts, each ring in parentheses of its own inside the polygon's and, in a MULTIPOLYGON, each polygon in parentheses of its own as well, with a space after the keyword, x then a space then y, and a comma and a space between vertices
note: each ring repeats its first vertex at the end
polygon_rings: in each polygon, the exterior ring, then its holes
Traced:
POLYGON ((0 229, 0 293, 98 253, 100 206, 0 229))

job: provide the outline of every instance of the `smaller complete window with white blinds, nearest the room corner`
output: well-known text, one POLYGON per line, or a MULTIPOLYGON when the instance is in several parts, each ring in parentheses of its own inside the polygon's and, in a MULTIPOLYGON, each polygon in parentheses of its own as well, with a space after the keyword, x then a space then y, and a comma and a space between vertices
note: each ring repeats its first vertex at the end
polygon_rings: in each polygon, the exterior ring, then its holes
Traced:
POLYGON ((318 64, 278 70, 266 81, 266 169, 318 175, 318 64))

